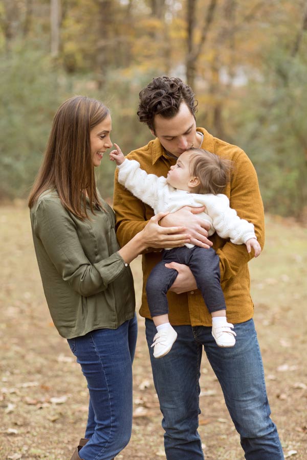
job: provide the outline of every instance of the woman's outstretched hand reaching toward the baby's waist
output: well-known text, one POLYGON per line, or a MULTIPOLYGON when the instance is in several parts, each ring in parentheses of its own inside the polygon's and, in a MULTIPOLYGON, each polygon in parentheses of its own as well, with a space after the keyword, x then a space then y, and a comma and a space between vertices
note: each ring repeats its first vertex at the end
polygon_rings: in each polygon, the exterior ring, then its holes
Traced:
POLYGON ((187 233, 185 226, 162 227, 159 221, 168 213, 159 213, 151 217, 144 229, 140 232, 146 248, 171 248, 183 246, 191 242, 191 236, 187 233))

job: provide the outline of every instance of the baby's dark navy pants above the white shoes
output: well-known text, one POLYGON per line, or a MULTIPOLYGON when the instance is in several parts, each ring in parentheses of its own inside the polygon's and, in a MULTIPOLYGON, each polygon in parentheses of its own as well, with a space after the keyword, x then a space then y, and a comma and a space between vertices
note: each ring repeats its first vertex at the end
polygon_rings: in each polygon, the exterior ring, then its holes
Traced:
POLYGON ((168 313, 166 294, 178 275, 177 270, 165 267, 170 262, 188 265, 210 313, 226 310, 220 281, 220 258, 215 250, 212 247, 205 249, 199 246, 183 246, 165 249, 161 262, 149 274, 146 294, 152 318, 168 313))

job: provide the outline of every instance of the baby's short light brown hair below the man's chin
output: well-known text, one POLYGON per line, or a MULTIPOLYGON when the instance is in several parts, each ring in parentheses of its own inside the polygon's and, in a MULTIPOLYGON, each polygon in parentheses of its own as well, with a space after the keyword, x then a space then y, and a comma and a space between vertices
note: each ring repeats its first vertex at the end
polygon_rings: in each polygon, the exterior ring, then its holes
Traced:
POLYGON ((230 181, 232 162, 221 158, 208 150, 191 148, 190 170, 193 177, 200 180, 199 186, 193 188, 195 193, 223 193, 230 181))

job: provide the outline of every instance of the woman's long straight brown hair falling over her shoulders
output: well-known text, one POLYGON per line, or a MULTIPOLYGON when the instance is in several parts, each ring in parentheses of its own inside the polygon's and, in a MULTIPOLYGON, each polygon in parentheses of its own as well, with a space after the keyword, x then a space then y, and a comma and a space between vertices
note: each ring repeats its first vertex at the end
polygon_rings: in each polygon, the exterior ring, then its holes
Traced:
POLYGON ((43 192, 55 189, 64 208, 81 220, 89 217, 86 192, 94 213, 94 207, 100 205, 100 201, 90 133, 108 114, 109 109, 104 104, 84 96, 70 98, 58 108, 45 156, 29 196, 29 208, 43 192))

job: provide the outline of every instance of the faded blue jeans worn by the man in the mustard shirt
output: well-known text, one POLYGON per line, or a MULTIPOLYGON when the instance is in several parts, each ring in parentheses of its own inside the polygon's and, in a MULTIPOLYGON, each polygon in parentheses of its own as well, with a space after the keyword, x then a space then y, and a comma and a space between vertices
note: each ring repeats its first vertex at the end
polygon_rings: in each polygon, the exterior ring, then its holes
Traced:
POLYGON ((156 328, 146 319, 153 380, 163 414, 167 460, 203 460, 198 433, 200 365, 204 346, 222 386, 232 421, 247 460, 283 460, 275 424, 270 418, 264 369, 252 319, 234 325, 233 348, 217 347, 211 327, 173 326, 178 337, 171 351, 156 359, 150 348, 156 328))

